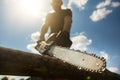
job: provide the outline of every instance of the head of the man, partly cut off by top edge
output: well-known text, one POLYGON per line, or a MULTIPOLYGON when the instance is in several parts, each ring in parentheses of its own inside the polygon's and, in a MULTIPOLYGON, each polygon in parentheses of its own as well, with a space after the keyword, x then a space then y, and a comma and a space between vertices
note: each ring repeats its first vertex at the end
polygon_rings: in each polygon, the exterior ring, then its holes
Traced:
POLYGON ((51 5, 56 12, 61 10, 62 4, 63 4, 62 0, 52 0, 51 2, 51 5))

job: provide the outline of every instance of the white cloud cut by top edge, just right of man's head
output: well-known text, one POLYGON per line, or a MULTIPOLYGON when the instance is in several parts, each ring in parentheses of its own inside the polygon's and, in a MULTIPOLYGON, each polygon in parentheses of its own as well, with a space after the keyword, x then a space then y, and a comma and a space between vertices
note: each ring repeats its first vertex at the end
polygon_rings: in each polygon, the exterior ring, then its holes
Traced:
POLYGON ((85 8, 88 0, 69 0, 68 7, 71 7, 72 4, 76 5, 80 10, 85 8))

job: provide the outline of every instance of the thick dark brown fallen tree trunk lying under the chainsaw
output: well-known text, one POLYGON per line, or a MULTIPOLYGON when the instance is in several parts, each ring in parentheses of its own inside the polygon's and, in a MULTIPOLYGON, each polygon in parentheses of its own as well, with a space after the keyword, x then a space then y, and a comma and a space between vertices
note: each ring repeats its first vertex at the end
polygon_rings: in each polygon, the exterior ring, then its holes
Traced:
POLYGON ((107 69, 103 73, 79 70, 57 58, 0 47, 0 75, 36 76, 68 80, 120 80, 107 69))

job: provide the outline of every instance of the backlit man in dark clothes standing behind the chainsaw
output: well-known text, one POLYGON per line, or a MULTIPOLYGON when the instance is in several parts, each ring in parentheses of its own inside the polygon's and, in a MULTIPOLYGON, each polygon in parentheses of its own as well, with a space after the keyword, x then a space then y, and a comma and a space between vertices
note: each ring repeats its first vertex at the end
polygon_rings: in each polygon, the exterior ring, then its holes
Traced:
MULTIPOLYGON (((62 0, 52 0, 51 5, 54 10, 46 17, 45 23, 41 29, 41 35, 38 43, 45 41, 45 34, 50 27, 50 35, 56 34, 54 39, 56 45, 63 47, 70 47, 72 42, 70 40, 70 29, 72 23, 72 12, 70 9, 62 9, 62 0)), ((48 39, 50 41, 51 39, 48 39)))

